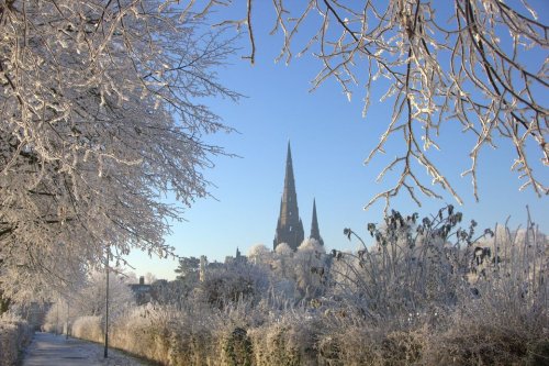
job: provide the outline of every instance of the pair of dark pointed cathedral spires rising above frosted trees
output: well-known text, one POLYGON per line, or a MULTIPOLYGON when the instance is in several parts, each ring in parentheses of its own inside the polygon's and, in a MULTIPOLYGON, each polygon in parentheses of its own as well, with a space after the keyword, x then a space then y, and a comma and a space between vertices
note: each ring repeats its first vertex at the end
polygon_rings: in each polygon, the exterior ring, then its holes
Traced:
MULTIPOLYGON (((324 241, 321 237, 318 220, 316 218, 316 201, 313 200, 313 221, 311 223, 310 239, 316 240, 321 245, 324 241)), ((284 190, 280 200, 280 214, 277 223, 277 233, 272 243, 276 249, 280 243, 287 243, 293 251, 298 249, 305 239, 303 222, 298 208, 298 193, 295 192, 295 180, 293 178, 292 152, 288 142, 288 155, 285 157, 284 190)))

